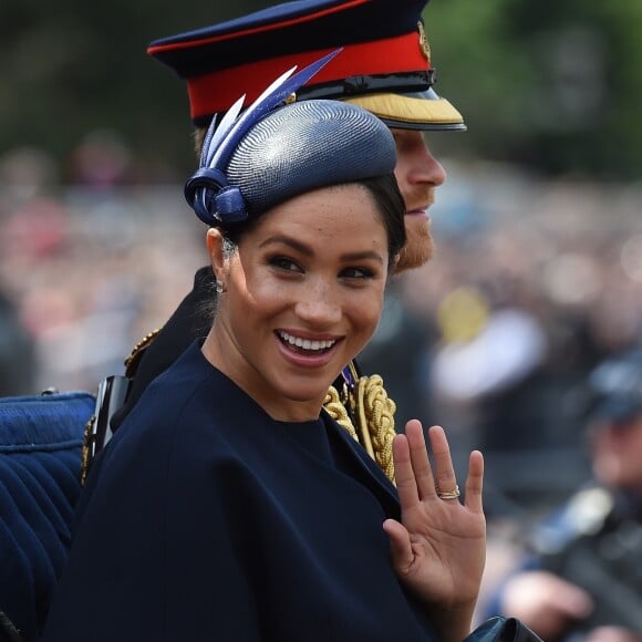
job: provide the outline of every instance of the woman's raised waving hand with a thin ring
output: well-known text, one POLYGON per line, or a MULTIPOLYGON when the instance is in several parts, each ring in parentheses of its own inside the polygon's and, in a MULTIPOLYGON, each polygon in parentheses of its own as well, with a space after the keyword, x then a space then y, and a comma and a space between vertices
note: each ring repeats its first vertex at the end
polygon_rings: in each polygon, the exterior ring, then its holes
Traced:
POLYGON ((393 567, 404 584, 426 602, 444 640, 462 640, 470 628, 486 559, 482 505, 484 458, 474 451, 465 500, 444 429, 428 431, 433 465, 422 424, 407 422, 393 443, 401 522, 386 519, 393 567))

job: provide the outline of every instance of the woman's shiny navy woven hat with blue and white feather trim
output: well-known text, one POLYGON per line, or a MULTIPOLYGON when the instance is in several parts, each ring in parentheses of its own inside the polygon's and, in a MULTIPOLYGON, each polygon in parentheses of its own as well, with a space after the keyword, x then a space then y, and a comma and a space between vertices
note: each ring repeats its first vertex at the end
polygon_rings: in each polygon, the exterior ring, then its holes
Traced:
POLYGON ((306 191, 394 172, 394 138, 370 112, 339 101, 288 102, 340 51, 294 75, 292 68, 242 113, 245 96, 213 121, 185 185, 198 218, 228 227, 306 191))

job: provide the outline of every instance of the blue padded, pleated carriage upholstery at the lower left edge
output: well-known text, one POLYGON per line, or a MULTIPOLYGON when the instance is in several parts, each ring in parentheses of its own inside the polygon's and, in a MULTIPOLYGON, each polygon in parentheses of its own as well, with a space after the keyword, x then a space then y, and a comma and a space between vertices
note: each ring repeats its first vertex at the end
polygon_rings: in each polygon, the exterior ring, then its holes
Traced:
POLYGON ((94 406, 86 392, 0 397, 0 610, 27 641, 66 560, 94 406))

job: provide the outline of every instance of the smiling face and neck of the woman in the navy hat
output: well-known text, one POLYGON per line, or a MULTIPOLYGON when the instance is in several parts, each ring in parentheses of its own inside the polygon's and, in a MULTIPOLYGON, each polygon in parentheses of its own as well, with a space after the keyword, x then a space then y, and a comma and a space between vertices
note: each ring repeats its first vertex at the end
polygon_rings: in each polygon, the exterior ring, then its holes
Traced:
POLYGON ((222 257, 224 283, 205 355, 273 418, 317 417, 329 385, 376 329, 387 278, 387 237, 358 185, 294 197, 263 215, 222 257))

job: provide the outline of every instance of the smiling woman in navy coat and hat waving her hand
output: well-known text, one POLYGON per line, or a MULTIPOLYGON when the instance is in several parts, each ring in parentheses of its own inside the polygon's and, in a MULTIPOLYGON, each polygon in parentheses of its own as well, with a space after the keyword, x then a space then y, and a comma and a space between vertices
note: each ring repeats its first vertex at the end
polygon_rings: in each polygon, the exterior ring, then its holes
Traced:
POLYGON ((389 128, 354 105, 290 100, 323 63, 209 131, 185 193, 209 226, 217 313, 96 458, 45 642, 469 631, 482 455, 460 503, 444 432, 429 432, 431 464, 408 422, 395 487, 323 410, 405 241, 389 128))

